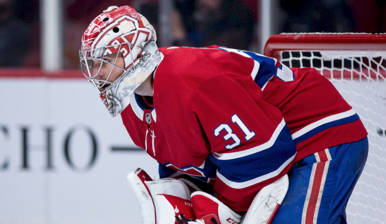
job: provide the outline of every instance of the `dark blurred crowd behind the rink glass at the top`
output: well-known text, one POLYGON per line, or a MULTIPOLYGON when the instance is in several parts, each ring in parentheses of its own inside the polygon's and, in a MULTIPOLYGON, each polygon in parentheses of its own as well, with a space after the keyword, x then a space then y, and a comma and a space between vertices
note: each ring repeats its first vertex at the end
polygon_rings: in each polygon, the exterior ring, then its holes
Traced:
MULTIPOLYGON (((171 0, 172 45, 255 50, 259 0, 171 0)), ((0 67, 40 67, 39 0, 0 0, 0 67)), ((89 22, 110 5, 131 5, 155 29, 158 0, 63 0, 64 69, 78 69, 89 22)), ((385 0, 275 0, 275 33, 386 32, 385 0)), ((159 31, 158 31, 159 32, 159 31)))

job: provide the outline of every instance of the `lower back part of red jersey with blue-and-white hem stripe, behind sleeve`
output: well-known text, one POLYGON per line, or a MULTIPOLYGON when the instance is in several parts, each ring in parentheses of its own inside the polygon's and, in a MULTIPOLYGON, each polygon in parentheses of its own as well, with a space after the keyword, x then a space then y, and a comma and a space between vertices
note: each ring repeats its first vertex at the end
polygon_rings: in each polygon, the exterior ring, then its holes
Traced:
POLYGON ((367 136, 359 116, 328 79, 314 68, 291 70, 292 80, 273 76, 263 95, 284 116, 296 143, 295 161, 367 136))

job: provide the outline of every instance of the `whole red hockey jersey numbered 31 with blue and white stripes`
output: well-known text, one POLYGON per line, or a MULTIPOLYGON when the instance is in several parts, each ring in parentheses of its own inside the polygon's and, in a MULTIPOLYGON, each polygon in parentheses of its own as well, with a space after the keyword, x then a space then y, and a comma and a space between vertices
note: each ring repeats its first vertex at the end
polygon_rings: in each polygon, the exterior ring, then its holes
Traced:
POLYGON ((133 94, 123 124, 159 162, 160 178, 171 168, 212 182, 234 211, 246 211, 295 160, 366 136, 357 114, 314 69, 217 46, 160 51, 153 103, 133 94))

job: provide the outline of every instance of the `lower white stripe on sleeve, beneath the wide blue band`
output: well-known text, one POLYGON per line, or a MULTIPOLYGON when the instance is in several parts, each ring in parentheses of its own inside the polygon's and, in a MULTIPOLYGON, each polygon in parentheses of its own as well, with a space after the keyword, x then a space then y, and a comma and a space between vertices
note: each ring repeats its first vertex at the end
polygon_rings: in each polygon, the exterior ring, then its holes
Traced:
POLYGON ((263 181, 266 181, 270 178, 273 178, 273 177, 279 175, 280 172, 283 171, 283 169, 285 169, 285 167, 288 166, 288 164, 290 164, 295 159, 295 155, 293 155, 291 158, 289 158, 287 161, 285 161, 285 163, 283 163, 277 170, 270 172, 269 174, 265 174, 263 176, 256 177, 256 178, 249 180, 249 181, 245 181, 245 182, 241 182, 241 183, 229 181, 224 176, 222 176, 220 173, 218 173, 218 171, 216 172, 216 176, 218 179, 220 179, 223 183, 225 183, 230 188, 234 188, 234 189, 246 188, 246 187, 261 183, 263 181))

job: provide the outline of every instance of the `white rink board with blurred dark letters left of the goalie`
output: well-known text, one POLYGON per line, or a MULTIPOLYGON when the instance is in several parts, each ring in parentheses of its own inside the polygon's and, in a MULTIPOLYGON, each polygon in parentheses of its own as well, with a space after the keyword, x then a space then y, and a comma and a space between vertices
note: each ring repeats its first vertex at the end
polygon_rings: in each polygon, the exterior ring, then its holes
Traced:
POLYGON ((134 144, 90 83, 0 78, 0 89, 0 224, 140 223, 126 175, 141 167, 158 178, 157 163, 144 151, 111 150, 134 144))

